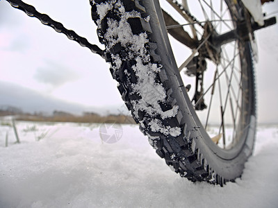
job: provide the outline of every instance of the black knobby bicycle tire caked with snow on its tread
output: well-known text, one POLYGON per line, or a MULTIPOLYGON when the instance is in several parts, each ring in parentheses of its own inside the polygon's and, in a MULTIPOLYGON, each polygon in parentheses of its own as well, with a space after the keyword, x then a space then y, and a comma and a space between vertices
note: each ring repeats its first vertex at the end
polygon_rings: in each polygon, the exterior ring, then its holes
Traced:
POLYGON ((242 70, 247 77, 243 86, 248 89, 248 102, 243 103, 247 124, 238 144, 231 150, 223 150, 208 137, 191 104, 158 1, 95 0, 90 4, 99 41, 106 46, 106 61, 111 62, 112 76, 156 153, 181 177, 193 182, 207 181, 222 186, 240 177, 252 154, 256 130, 249 44, 243 46, 242 53, 242 70), (147 89, 142 89, 144 86, 147 89))

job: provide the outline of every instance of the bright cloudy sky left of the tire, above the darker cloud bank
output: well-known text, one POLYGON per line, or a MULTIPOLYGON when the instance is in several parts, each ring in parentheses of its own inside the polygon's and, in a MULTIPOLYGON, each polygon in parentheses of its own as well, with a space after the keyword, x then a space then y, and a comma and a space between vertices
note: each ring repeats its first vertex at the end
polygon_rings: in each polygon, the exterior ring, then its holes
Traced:
MULTIPOLYGON (((25 2, 98 43, 89 1, 25 2)), ((0 1, 0 55, 0 82, 70 103, 104 107, 105 111, 123 104, 109 65, 102 58, 12 8, 7 1, 0 1)))

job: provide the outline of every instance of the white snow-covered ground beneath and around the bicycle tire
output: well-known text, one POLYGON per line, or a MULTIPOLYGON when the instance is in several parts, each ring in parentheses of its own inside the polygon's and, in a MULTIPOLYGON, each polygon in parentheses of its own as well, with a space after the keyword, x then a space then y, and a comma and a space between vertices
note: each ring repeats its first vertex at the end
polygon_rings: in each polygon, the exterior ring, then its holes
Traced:
POLYGON ((278 207, 278 125, 259 126, 242 178, 219 187, 172 172, 136 125, 17 122, 15 144, 0 122, 3 208, 278 207))

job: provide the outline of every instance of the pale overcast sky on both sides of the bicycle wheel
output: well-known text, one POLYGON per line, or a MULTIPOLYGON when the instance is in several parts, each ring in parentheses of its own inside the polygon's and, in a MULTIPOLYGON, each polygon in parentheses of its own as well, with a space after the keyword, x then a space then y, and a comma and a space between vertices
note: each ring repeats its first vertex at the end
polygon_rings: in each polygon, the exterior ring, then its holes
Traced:
MULTIPOLYGON (((89 42, 98 42, 89 0, 25 2, 62 22, 66 28, 74 29, 89 42)), ((278 10, 278 2, 265 6, 264 10, 278 10)), ((277 37, 277 25, 256 33, 259 122, 278 122, 277 37)), ((108 69, 109 64, 89 49, 12 8, 7 1, 0 1, 0 87, 13 85, 15 91, 31 89, 51 99, 115 111, 122 109, 123 101, 108 69)), ((1 97, 0 94, 0 105, 11 104, 1 97)))

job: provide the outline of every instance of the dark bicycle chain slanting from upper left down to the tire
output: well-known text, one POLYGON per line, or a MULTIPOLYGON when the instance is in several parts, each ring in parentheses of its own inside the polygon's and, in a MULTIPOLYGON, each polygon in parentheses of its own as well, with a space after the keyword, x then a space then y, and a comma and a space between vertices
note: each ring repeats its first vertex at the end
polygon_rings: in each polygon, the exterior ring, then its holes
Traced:
POLYGON ((21 0, 6 0, 6 1, 8 1, 8 3, 10 3, 11 6, 13 6, 13 8, 17 8, 19 10, 24 11, 26 13, 26 15, 28 15, 29 17, 35 17, 35 18, 39 19, 42 22, 42 24, 50 26, 51 28, 54 28, 54 30, 57 33, 63 33, 65 35, 67 35, 67 37, 70 40, 74 40, 75 42, 78 42, 81 46, 87 47, 88 49, 90 49, 90 51, 92 51, 92 53, 97 53, 98 55, 101 55, 101 57, 106 60, 106 54, 104 51, 99 49, 99 46, 97 46, 95 44, 90 44, 90 42, 88 42, 88 40, 85 39, 85 37, 81 37, 81 36, 77 35, 74 31, 68 30, 67 28, 65 28, 63 26, 63 24, 61 24, 58 21, 54 21, 48 15, 38 12, 35 9, 35 7, 33 7, 27 3, 24 3, 21 0))

